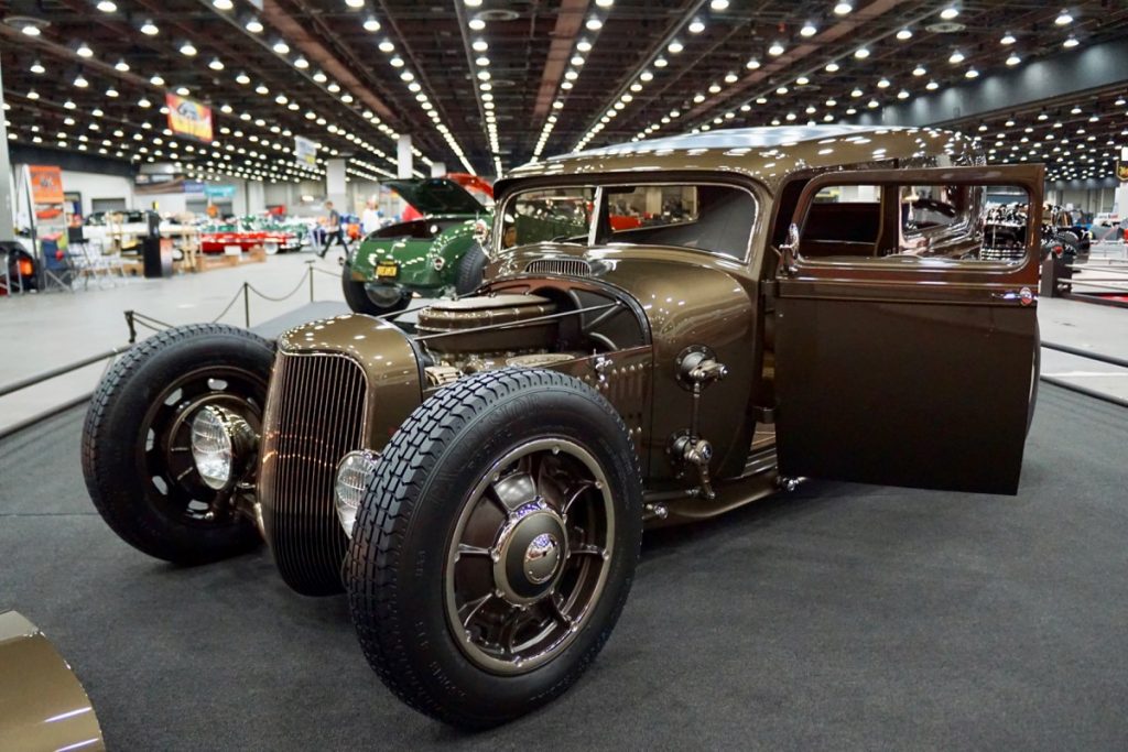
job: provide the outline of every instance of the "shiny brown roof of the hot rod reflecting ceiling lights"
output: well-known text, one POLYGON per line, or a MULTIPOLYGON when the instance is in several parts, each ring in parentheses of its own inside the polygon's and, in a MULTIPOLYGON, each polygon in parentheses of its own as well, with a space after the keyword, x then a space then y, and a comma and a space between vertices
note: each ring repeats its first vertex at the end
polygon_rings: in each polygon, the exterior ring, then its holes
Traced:
POLYGON ((910 160, 916 166, 981 161, 977 142, 931 127, 796 125, 714 130, 589 149, 530 162, 495 186, 519 179, 618 171, 704 170, 737 172, 776 187, 800 170, 910 160))

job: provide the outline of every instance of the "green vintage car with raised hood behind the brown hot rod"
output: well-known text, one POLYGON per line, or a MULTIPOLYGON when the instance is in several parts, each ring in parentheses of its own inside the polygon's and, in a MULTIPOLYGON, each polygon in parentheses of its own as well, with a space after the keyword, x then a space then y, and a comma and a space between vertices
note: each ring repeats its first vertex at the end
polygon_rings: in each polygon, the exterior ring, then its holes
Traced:
POLYGON ((349 253, 341 284, 349 308, 380 316, 407 308, 412 293, 441 298, 473 292, 482 283, 486 256, 475 239, 478 220, 492 223, 490 184, 472 175, 388 180, 416 219, 371 232, 349 253))

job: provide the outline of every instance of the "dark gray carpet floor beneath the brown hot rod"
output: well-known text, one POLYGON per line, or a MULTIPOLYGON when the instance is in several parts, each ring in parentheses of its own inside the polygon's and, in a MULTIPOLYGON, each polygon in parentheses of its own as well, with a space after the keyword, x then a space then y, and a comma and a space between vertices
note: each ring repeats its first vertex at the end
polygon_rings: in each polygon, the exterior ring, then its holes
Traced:
POLYGON ((118 541, 80 427, 0 444, 0 607, 55 642, 112 749, 1128 749, 1111 405, 1043 386, 1017 497, 810 483, 649 533, 585 678, 474 735, 396 701, 344 599, 293 594, 266 551, 184 569, 118 541))

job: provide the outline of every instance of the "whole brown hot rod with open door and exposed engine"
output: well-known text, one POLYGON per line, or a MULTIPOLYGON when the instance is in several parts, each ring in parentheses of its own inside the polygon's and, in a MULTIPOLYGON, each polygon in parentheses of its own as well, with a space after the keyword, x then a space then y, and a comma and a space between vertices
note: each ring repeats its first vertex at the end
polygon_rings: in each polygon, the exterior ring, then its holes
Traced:
POLYGON ((923 129, 717 131, 496 185, 487 282, 265 342, 167 330, 107 375, 83 469, 127 542, 180 563, 265 540, 346 591, 412 707, 488 726, 610 635, 645 524, 801 478, 1013 494, 1038 377, 1042 168, 923 129), (546 200, 584 207, 546 223, 546 200), (616 228, 615 211, 645 221, 616 228))

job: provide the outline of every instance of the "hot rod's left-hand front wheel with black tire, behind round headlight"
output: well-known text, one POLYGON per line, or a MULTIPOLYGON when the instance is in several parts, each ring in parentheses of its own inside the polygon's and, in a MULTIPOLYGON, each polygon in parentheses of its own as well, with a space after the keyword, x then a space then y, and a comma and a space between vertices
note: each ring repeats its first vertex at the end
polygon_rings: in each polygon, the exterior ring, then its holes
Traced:
POLYGON ((98 513, 125 542, 176 564, 214 561, 262 542, 233 508, 204 516, 224 499, 200 480, 191 452, 173 454, 169 444, 183 441, 187 410, 203 404, 257 423, 273 361, 273 345, 252 331, 194 324, 144 339, 114 364, 86 414, 82 475, 98 513), (175 428, 166 434, 167 426, 175 428))

